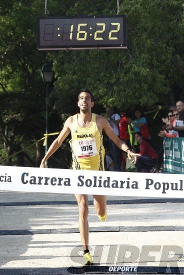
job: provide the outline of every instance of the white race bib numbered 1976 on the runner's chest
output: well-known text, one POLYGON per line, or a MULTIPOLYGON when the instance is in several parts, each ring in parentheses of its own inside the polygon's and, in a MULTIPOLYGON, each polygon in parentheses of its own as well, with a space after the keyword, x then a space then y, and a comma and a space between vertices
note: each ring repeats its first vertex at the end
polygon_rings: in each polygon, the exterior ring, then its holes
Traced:
POLYGON ((89 157, 97 154, 95 138, 76 140, 77 157, 89 157))

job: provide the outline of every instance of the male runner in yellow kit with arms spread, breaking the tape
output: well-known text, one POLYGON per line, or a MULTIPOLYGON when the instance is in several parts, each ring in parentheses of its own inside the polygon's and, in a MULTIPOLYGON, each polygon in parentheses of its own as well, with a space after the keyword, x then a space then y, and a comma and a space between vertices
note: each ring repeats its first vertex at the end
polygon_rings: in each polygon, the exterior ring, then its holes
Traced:
MULTIPOLYGON (((101 115, 91 113, 94 97, 88 89, 81 89, 78 94, 77 104, 80 108, 80 113, 69 116, 66 119, 63 129, 50 145, 41 161, 40 167, 45 167, 46 160, 58 149, 70 132, 71 140, 69 142, 72 151, 73 169, 104 170, 105 151, 102 145, 102 130, 120 149, 127 152, 129 158, 134 157, 136 159, 137 154, 131 152, 126 143, 117 137, 108 121, 101 115)), ((84 265, 89 265, 92 264, 92 258, 88 250, 88 198, 86 194, 75 194, 75 197, 79 207, 79 231, 85 259, 84 265)), ((102 221, 106 220, 106 196, 93 195, 93 198, 99 219, 102 221)))

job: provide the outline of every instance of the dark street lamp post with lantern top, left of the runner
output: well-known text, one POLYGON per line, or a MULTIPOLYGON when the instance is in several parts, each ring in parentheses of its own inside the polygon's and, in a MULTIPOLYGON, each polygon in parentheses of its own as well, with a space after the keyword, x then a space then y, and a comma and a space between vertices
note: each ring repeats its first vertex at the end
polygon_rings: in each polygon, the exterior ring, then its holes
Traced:
MULTIPOLYGON (((47 134, 48 133, 48 92, 49 92, 50 83, 53 80, 53 71, 52 71, 52 64, 51 63, 45 63, 42 66, 41 76, 42 76, 44 84, 46 85, 45 134, 47 134)), ((46 138, 45 139, 45 154, 46 154, 46 152, 48 150, 47 136, 45 138, 46 138)), ((48 167, 47 161, 46 161, 46 167, 48 167)))

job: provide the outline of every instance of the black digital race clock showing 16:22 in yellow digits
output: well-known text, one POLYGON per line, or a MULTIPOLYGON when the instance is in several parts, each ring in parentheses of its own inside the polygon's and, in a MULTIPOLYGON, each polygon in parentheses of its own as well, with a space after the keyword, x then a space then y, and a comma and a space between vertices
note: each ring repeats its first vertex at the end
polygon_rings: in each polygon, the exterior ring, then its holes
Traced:
POLYGON ((39 50, 126 47, 125 15, 37 17, 39 50))

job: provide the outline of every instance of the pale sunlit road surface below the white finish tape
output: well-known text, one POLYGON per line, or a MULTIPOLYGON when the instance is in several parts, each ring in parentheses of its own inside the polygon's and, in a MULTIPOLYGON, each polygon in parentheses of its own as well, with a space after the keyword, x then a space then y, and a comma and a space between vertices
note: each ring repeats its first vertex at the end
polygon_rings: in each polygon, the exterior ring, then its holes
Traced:
MULTIPOLYGON (((93 262, 98 266, 169 263, 184 267, 183 202, 141 198, 144 203, 138 203, 139 199, 108 197, 105 222, 97 218, 91 202, 88 221, 93 262)), ((0 272, 81 267, 80 250, 74 195, 0 191, 0 272)))

